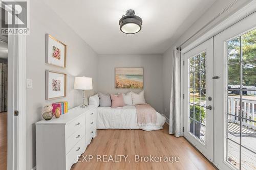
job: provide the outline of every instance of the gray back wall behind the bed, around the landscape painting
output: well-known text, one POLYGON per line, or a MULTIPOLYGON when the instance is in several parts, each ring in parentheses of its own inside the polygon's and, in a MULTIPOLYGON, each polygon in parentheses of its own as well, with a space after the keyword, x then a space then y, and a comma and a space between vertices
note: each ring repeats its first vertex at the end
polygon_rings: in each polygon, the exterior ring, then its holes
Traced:
POLYGON ((115 89, 115 67, 143 67, 146 102, 162 113, 162 55, 99 55, 99 91, 103 93, 131 91, 115 89))

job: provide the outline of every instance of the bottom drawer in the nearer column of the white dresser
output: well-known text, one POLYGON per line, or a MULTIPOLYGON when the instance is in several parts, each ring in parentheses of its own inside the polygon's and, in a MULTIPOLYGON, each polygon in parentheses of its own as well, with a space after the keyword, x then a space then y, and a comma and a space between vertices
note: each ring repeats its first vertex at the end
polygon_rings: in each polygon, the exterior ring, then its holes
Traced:
POLYGON ((86 150, 86 138, 83 136, 76 145, 66 155, 66 165, 71 167, 73 163, 76 163, 78 156, 86 150))

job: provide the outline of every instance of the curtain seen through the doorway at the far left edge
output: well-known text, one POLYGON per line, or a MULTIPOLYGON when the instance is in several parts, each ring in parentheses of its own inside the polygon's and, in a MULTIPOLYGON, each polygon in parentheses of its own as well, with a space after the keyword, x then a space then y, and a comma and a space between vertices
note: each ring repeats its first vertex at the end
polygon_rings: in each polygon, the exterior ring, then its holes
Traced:
POLYGON ((7 111, 7 64, 0 63, 0 112, 7 111))

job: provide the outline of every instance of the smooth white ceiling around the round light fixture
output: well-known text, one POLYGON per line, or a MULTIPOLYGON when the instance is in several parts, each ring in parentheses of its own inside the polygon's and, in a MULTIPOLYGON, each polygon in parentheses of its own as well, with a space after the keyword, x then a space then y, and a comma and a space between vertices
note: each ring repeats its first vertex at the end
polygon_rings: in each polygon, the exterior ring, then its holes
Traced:
POLYGON ((215 0, 44 0, 98 54, 162 54, 215 0), (142 30, 127 35, 119 19, 134 9, 142 30))

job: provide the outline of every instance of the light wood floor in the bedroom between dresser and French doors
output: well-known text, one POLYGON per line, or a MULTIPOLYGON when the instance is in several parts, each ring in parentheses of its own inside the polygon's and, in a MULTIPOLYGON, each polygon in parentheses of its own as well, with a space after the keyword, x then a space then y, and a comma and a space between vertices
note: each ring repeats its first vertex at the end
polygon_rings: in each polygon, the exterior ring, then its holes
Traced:
POLYGON ((150 132, 97 130, 97 137, 83 153, 83 156, 86 155, 93 155, 93 159, 90 162, 77 162, 71 169, 215 169, 184 137, 169 135, 166 124, 163 130, 150 132), (121 162, 97 162, 97 155, 128 155, 127 160, 131 162, 125 162, 125 159, 121 162), (135 162, 135 155, 178 156, 179 162, 135 162))

